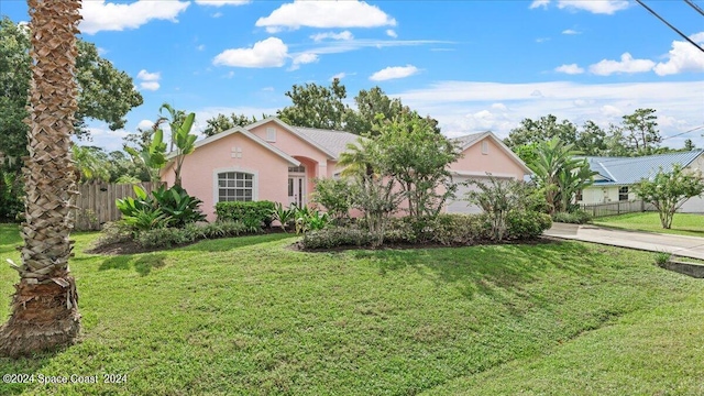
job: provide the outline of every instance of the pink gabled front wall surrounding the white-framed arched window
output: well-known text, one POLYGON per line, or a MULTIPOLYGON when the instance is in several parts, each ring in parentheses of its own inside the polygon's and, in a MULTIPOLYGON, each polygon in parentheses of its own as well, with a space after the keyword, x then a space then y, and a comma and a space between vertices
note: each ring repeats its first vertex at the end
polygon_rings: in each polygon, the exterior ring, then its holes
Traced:
MULTIPOLYGON (((186 156, 182 168, 182 184, 188 194, 200 198, 208 221, 216 220, 217 173, 246 172, 254 174, 254 200, 271 200, 288 205, 288 162, 241 133, 233 133, 196 148, 186 156), (241 150, 241 158, 233 158, 241 150)), ((174 184, 172 168, 162 179, 174 184)))

